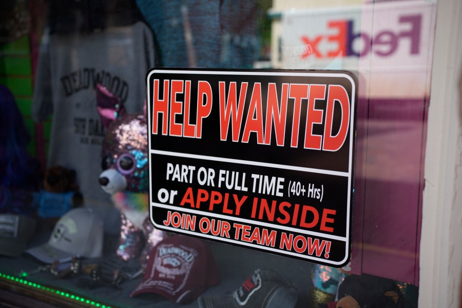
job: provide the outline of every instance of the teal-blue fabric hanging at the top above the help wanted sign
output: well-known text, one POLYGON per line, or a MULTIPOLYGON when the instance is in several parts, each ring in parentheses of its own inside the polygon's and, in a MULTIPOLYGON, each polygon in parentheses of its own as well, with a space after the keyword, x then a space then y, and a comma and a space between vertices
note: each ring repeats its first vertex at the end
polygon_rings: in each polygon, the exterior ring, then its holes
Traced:
POLYGON ((256 0, 137 0, 164 67, 252 68, 259 54, 256 0))

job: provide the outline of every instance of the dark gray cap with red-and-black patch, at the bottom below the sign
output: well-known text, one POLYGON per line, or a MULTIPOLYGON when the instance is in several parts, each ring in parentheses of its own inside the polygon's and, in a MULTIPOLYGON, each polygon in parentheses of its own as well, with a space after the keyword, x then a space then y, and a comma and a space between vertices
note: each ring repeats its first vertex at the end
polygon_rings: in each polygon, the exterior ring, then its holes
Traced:
POLYGON ((257 269, 232 295, 201 296, 200 308, 293 308, 295 286, 271 269, 257 269))

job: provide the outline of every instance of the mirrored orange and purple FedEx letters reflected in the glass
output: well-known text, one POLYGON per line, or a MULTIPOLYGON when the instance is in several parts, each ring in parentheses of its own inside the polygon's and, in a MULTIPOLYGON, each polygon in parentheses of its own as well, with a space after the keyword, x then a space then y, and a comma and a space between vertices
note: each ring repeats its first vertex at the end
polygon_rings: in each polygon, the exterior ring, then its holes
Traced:
POLYGON ((400 29, 382 30, 372 35, 364 32, 355 33, 354 20, 339 20, 328 22, 329 29, 336 29, 337 33, 331 35, 318 35, 315 37, 301 36, 304 45, 310 45, 310 50, 302 53, 302 59, 315 56, 317 58, 329 58, 336 56, 364 56, 374 52, 379 56, 393 54, 399 44, 404 40, 409 42, 409 54, 420 52, 420 28, 421 15, 402 15, 397 17, 400 29), (355 50, 354 42, 359 40, 359 50, 355 50), (321 42, 336 43, 337 49, 323 52, 319 47, 321 42))

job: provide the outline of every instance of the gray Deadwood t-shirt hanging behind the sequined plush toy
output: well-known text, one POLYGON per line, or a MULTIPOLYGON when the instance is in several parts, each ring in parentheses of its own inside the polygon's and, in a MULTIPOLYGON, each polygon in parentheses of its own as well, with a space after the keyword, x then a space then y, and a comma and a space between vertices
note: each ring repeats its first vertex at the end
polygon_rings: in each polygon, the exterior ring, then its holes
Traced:
POLYGON ((154 52, 152 32, 143 23, 43 37, 32 117, 42 122, 53 115, 48 166, 75 169, 86 206, 103 210, 111 204, 98 183, 104 129, 95 86, 101 83, 117 94, 127 113, 142 112, 154 52))

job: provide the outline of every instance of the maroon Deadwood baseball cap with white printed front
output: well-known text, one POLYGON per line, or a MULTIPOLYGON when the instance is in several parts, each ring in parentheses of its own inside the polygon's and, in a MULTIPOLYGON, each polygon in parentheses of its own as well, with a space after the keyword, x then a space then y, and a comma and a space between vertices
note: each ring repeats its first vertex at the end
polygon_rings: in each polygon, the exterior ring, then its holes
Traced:
POLYGON ((153 247, 143 281, 130 296, 156 293, 179 304, 195 300, 219 283, 210 249, 199 239, 175 235, 153 247))

